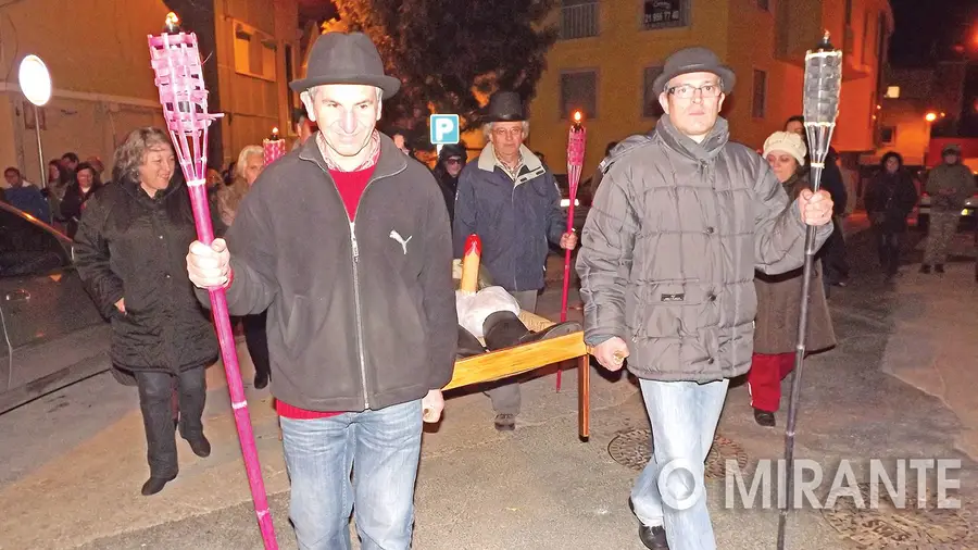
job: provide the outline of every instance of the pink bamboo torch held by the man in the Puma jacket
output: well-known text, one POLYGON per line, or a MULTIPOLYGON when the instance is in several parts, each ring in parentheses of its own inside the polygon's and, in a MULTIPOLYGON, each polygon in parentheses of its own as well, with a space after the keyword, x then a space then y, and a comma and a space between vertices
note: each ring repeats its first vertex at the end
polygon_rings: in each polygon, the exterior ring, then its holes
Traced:
MULTIPOLYGON (((204 179, 208 167, 208 127, 222 115, 208 113, 208 90, 200 66, 197 35, 180 32, 176 15, 170 13, 166 16, 164 33, 160 36, 149 36, 149 49, 156 87, 160 89, 163 117, 166 120, 177 159, 187 178, 197 237, 201 242, 210 245, 214 240, 214 229, 211 226, 204 179)), ((235 337, 227 314, 227 299, 223 288, 210 289, 209 292, 214 323, 217 325, 217 339, 221 342, 221 358, 227 376, 227 389, 235 412, 238 439, 241 442, 241 454, 244 457, 244 471, 254 501, 254 513, 258 516, 265 549, 277 550, 278 542, 268 512, 268 497, 262 480, 262 468, 254 446, 254 434, 251 430, 251 417, 248 414, 248 401, 244 399, 244 386, 241 383, 241 371, 235 351, 235 337)))

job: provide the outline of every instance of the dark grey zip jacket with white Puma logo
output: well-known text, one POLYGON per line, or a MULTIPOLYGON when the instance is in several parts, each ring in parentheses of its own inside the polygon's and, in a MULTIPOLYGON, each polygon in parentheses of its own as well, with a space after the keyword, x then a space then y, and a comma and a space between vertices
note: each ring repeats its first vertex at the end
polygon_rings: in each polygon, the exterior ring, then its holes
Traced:
POLYGON ((431 173, 387 136, 353 222, 315 139, 265 168, 227 234, 227 304, 268 310, 275 398, 379 410, 448 384, 459 337, 448 226, 431 173))

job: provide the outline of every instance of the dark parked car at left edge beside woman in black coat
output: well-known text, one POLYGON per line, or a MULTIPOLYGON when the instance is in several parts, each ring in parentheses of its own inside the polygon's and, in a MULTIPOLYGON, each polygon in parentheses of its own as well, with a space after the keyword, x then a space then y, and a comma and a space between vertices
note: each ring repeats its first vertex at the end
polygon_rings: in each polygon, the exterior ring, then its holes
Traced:
POLYGON ((72 247, 0 203, 0 413, 111 365, 109 324, 85 291, 72 247))

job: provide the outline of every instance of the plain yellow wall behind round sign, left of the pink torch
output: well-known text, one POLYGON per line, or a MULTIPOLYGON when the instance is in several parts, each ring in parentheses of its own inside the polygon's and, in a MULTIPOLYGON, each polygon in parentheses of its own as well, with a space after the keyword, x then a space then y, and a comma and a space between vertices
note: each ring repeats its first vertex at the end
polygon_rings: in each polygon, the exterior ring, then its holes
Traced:
POLYGON ((33 107, 17 87, 28 53, 45 60, 54 86, 41 132, 48 160, 75 151, 100 157, 111 170, 118 140, 162 122, 147 46, 168 11, 161 0, 32 0, 0 11, 0 164, 40 179, 35 133, 24 121, 25 113, 33 120, 33 107))

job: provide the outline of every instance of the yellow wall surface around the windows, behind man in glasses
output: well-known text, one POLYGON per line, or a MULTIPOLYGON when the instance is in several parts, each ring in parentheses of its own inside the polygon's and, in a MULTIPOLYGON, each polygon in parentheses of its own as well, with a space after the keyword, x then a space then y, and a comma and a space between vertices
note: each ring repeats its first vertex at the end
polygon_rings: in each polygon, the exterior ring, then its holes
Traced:
MULTIPOLYGON (((641 2, 601 0, 599 35, 557 41, 548 54, 548 67, 537 85, 530 105, 529 147, 547 154, 555 172, 564 172, 567 128, 560 120, 562 72, 598 71, 598 115, 586 121, 588 150, 584 177, 588 177, 604 154, 605 145, 631 134, 649 132, 654 120, 641 116, 642 75, 647 66, 662 65, 669 53, 689 46, 705 46, 737 73, 737 85, 727 98, 723 115, 730 121, 732 139, 761 148, 764 139, 781 129, 785 121, 802 111, 803 67, 798 61, 776 58, 777 12, 781 2, 772 0, 773 12, 757 8, 756 0, 699 0, 691 2, 691 25, 685 28, 641 30, 641 2), (763 117, 752 115, 753 71, 767 73, 767 99, 763 117)), ((844 0, 822 0, 822 16, 837 47, 842 47, 844 0)), ((854 46, 862 52, 865 14, 889 12, 887 0, 853 0, 854 46)), ((559 21, 555 12, 552 22, 559 21)), ((876 25, 869 25, 875 41, 876 25)), ((815 43, 813 41, 812 47, 815 43)), ((840 126, 833 145, 839 150, 873 149, 873 110, 876 104, 876 74, 879 61, 875 48, 867 51, 865 76, 843 84, 840 126)))

